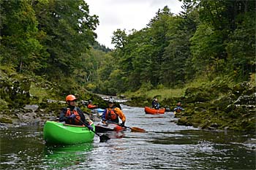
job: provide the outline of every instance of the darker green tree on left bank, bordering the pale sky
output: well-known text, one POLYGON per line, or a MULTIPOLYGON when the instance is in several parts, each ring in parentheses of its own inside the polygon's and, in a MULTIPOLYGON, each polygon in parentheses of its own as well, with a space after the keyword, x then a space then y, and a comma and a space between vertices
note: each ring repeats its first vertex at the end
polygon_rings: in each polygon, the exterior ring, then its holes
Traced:
POLYGON ((79 69, 81 54, 93 44, 99 20, 89 15, 89 6, 83 0, 34 1, 34 8, 39 30, 47 34, 42 40, 50 54, 45 72, 50 80, 61 80, 79 69))

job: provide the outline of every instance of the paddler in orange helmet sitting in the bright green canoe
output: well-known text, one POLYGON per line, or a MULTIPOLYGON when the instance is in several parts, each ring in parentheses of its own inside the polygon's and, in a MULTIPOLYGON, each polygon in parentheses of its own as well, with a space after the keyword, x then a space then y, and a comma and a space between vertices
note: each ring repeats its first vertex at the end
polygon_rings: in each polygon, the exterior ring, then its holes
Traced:
POLYGON ((86 126, 90 130, 93 130, 91 125, 89 125, 89 123, 86 121, 86 117, 83 115, 83 111, 79 107, 76 107, 76 100, 77 98, 75 98, 75 96, 72 94, 69 94, 66 97, 66 103, 68 106, 61 109, 59 121, 65 122, 69 125, 83 125, 83 123, 86 123, 86 126))

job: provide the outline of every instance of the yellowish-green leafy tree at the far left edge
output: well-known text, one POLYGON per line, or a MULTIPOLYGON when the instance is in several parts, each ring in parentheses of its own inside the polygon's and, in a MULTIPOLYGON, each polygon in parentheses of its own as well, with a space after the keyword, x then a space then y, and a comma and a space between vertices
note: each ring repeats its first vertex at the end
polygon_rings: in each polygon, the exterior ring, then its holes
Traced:
POLYGON ((37 18, 29 1, 1 1, 1 64, 17 72, 37 72, 45 66, 45 48, 38 37, 37 18))

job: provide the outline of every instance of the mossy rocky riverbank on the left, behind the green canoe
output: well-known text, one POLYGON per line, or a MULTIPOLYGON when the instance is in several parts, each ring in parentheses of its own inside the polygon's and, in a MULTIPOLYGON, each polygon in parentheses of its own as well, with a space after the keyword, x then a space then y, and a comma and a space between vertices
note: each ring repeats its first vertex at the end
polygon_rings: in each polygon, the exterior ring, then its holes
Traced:
MULTIPOLYGON (((54 85, 31 77, 0 72, 0 125, 43 125, 46 120, 58 120, 61 108, 67 107, 64 95, 57 95, 54 85)), ((89 93, 85 89, 78 90, 78 107, 84 112, 85 101, 94 101, 99 107, 105 108, 107 102, 101 97, 89 93)))

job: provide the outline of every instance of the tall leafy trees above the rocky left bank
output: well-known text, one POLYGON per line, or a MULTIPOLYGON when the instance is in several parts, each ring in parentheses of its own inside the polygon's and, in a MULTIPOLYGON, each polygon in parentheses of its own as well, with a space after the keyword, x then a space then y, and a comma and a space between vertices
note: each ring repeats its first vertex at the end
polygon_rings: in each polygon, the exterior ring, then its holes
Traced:
MULTIPOLYGON (((94 81, 97 62, 86 53, 94 43, 99 20, 89 15, 85 1, 10 0, 0 4, 1 66, 42 76, 51 82, 54 94, 73 93, 79 85, 94 81)), ((48 93, 34 83, 31 92, 41 96, 40 101, 48 93)))

